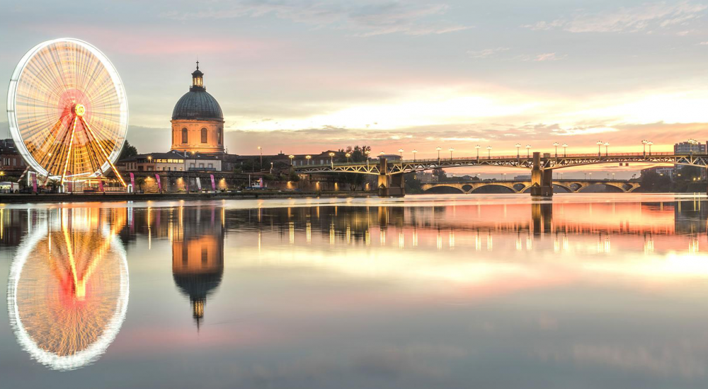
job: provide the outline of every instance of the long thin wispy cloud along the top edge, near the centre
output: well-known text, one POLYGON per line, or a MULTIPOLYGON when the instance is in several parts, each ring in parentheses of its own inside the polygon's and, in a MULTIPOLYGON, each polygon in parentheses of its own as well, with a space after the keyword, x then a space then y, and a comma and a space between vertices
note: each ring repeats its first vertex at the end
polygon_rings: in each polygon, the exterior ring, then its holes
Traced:
POLYGON ((162 18, 176 21, 195 19, 260 18, 273 15, 316 28, 354 30, 355 36, 370 37, 401 33, 405 35, 445 34, 472 28, 450 21, 438 20, 447 13, 446 4, 412 5, 399 1, 368 4, 335 4, 325 1, 239 1, 227 7, 210 7, 196 12, 169 11, 162 18))

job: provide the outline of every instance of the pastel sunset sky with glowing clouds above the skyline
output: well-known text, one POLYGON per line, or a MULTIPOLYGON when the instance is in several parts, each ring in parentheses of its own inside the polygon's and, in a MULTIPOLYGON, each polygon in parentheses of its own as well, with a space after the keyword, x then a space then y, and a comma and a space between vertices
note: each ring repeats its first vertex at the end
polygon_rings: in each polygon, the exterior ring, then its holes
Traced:
POLYGON ((229 153, 708 141, 708 0, 28 0, 0 13, 0 78, 56 37, 113 62, 142 153, 169 149, 197 59, 229 153))

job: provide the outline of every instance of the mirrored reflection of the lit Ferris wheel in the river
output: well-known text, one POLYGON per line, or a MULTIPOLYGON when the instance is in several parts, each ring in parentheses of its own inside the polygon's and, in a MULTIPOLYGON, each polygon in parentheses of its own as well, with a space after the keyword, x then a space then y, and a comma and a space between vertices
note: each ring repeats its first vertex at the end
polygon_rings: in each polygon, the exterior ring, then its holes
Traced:
POLYGON ((18 248, 8 314, 36 361, 67 371, 96 361, 125 319, 129 281, 116 233, 125 210, 48 210, 18 248))

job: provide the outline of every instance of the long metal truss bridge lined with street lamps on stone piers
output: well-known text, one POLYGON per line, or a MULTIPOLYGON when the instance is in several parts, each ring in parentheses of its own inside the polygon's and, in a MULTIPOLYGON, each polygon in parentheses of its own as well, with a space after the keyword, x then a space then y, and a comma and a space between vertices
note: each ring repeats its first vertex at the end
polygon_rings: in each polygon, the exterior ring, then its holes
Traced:
MULTIPOLYGON (((366 161, 355 163, 329 163, 324 165, 292 166, 295 173, 358 173, 377 175, 380 196, 403 196, 405 194, 405 173, 413 173, 437 168, 462 168, 496 166, 531 170, 528 192, 534 197, 553 195, 553 170, 573 166, 598 165, 603 163, 651 163, 697 166, 708 168, 708 154, 675 153, 592 153, 568 154, 564 156, 551 153, 534 152, 528 156, 488 156, 421 159, 413 161, 366 161)), ((586 180, 583 180, 586 181, 586 180)), ((614 186, 614 185, 613 185, 614 186)), ((526 188, 525 188, 526 189, 526 188)), ((580 189, 580 188, 578 188, 580 189)), ((622 189, 622 188, 621 188, 622 189)), ((635 188, 636 189, 636 188, 635 188)), ((624 190, 624 189, 623 189, 624 190)))

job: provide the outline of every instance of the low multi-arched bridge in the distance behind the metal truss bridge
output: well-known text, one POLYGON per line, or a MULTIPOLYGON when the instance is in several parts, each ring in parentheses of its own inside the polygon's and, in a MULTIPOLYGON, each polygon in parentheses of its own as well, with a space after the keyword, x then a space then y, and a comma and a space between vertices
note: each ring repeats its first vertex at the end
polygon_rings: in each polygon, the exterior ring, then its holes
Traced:
MULTIPOLYGON (((553 180, 552 185, 561 187, 571 193, 581 192, 590 185, 607 185, 616 187, 624 193, 634 192, 639 187, 638 180, 553 180)), ((481 187, 506 187, 513 193, 529 192, 533 187, 533 182, 529 180, 490 180, 490 181, 459 181, 459 182, 432 182, 421 185, 423 192, 428 192, 436 187, 450 187, 459 190, 460 193, 474 193, 481 187)))

